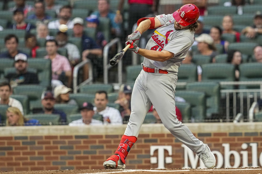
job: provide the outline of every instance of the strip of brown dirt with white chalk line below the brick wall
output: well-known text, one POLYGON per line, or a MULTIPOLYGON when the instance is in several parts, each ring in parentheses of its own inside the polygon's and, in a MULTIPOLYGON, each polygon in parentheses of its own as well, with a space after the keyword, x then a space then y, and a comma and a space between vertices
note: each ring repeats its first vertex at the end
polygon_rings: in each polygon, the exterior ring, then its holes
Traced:
POLYGON ((228 169, 141 169, 141 170, 42 170, 21 172, 0 172, 0 174, 262 174, 262 168, 228 168, 228 169))

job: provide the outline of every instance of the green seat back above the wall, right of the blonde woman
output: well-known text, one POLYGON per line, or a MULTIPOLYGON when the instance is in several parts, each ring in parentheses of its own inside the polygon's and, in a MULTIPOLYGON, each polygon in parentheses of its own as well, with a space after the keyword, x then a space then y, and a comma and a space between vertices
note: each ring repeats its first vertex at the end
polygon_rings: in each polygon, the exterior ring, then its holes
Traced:
POLYGON ((27 119, 36 119, 41 125, 59 125, 59 114, 28 114, 25 115, 27 119))

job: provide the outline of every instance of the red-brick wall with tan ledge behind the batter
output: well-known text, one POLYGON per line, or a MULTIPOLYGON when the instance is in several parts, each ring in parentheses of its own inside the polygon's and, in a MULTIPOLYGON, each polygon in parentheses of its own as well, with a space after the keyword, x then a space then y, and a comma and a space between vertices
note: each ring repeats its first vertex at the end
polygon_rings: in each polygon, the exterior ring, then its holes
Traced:
MULTIPOLYGON (((242 143, 257 142, 258 153, 262 151, 262 123, 186 125, 197 138, 209 144, 211 150, 222 154, 222 143, 230 143, 230 149, 240 153, 243 150, 242 143)), ((102 169, 103 162, 116 150, 125 127, 126 125, 1 127, 0 171, 102 169)), ((126 169, 156 168, 157 164, 150 164, 152 145, 171 145, 173 162, 165 164, 165 167, 183 167, 182 143, 163 125, 145 124, 128 155, 126 169)), ((251 161, 251 147, 245 150, 251 161)), ((152 156, 157 156, 157 150, 152 156)), ((167 151, 165 156, 168 156, 167 151)), ((231 158, 232 165, 233 162, 231 158)))

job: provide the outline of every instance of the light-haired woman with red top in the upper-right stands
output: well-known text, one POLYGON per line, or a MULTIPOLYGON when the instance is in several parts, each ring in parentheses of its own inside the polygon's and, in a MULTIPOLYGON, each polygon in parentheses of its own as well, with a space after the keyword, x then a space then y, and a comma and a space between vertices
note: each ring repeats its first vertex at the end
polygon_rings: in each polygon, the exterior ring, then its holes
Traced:
POLYGON ((236 36, 236 42, 240 42, 240 33, 235 31, 233 29, 234 23, 233 18, 230 15, 225 15, 222 20, 222 27, 223 31, 222 33, 229 33, 229 34, 235 34, 236 36))

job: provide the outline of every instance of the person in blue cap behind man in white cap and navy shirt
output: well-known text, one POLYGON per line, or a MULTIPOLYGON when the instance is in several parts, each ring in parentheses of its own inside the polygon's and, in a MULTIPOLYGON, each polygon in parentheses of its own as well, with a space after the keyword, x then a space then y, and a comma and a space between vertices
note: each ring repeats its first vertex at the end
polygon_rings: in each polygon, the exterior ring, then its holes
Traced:
POLYGON ((96 29, 96 44, 100 48, 104 48, 107 44, 107 41, 105 39, 104 34, 101 31, 97 31, 97 27, 99 24, 99 19, 96 15, 90 15, 87 18, 85 18, 86 22, 86 27, 87 28, 95 28, 96 29))

